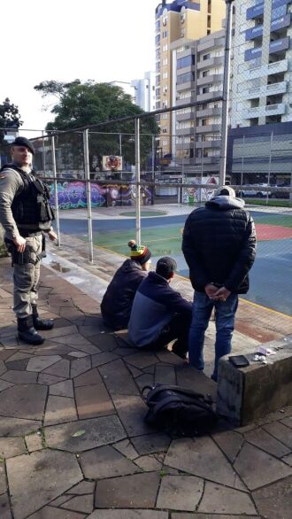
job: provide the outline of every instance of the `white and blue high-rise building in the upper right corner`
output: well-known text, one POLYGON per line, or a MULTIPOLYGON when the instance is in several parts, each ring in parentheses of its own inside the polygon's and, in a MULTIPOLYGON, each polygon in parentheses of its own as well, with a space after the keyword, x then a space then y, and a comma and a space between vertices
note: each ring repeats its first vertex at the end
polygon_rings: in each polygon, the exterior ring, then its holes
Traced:
POLYGON ((235 4, 232 128, 292 119, 291 3, 235 4))

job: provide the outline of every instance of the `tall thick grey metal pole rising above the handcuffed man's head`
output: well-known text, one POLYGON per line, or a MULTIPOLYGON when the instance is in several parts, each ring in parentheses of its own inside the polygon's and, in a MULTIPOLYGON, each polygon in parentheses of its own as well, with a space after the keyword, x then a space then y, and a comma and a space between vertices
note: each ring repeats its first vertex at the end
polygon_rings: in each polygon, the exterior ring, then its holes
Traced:
POLYGON ((231 38, 232 38, 232 14, 234 0, 226 0, 227 21, 226 21, 226 43, 224 58, 224 79, 223 79, 223 101, 222 101, 222 136, 221 136, 221 160, 219 183, 224 185, 227 174, 227 136, 228 136, 228 109, 230 94, 230 58, 231 58, 231 38))

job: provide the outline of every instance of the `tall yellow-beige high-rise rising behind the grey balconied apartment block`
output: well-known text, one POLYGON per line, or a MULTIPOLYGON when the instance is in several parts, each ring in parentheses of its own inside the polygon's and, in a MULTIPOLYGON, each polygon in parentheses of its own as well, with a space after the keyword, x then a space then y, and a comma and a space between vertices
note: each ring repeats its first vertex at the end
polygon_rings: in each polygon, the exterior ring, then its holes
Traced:
MULTIPOLYGON (((226 14, 225 0, 165 0, 156 9, 156 107, 173 106, 173 44, 179 51, 189 43, 219 30, 226 14)), ((176 73, 175 73, 176 74, 176 73)), ((195 70, 185 77, 191 82, 195 70)), ((191 98, 186 97, 186 103, 191 98)), ((163 155, 172 152, 172 118, 169 113, 158 120, 161 131, 160 147, 163 155)))

